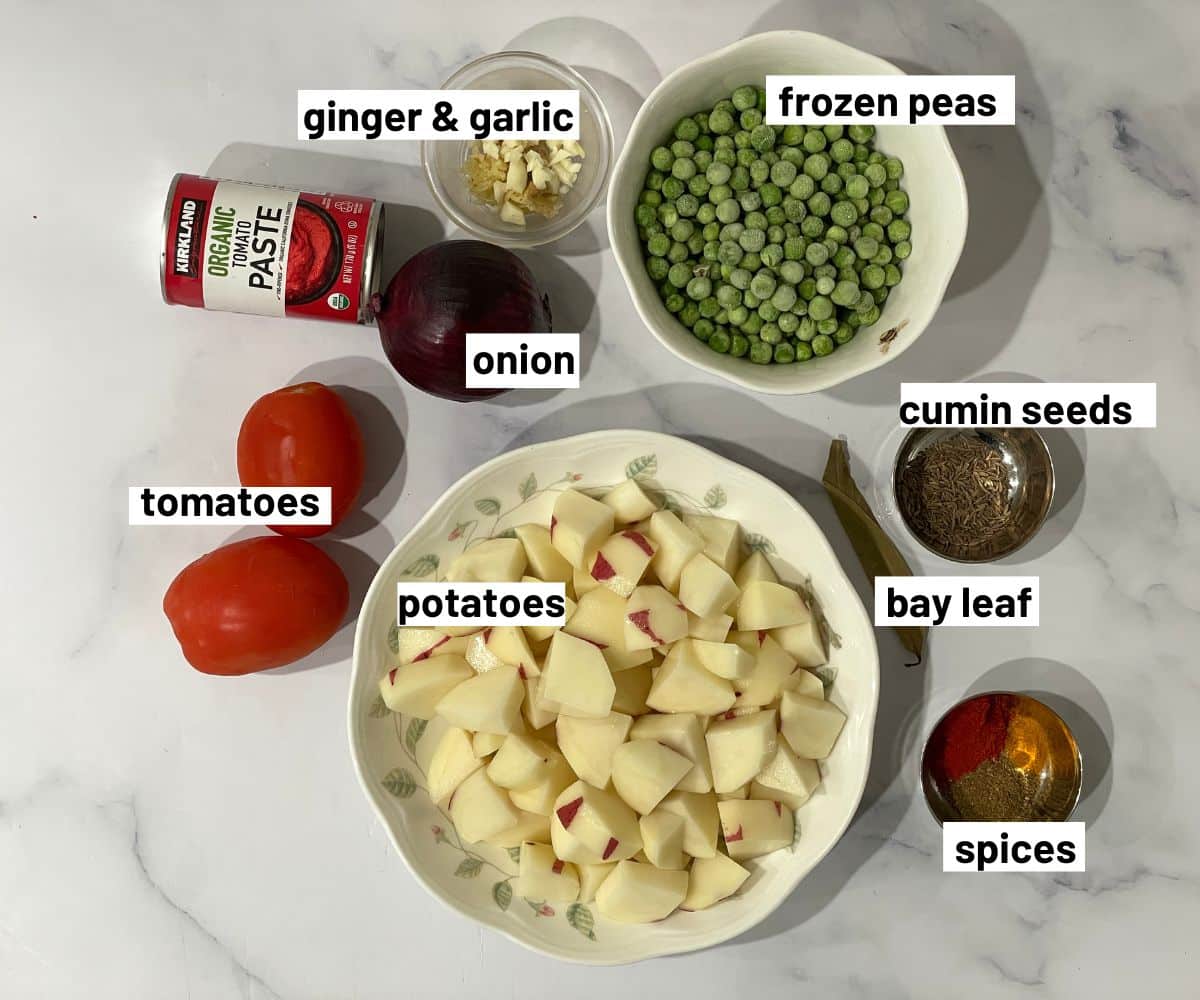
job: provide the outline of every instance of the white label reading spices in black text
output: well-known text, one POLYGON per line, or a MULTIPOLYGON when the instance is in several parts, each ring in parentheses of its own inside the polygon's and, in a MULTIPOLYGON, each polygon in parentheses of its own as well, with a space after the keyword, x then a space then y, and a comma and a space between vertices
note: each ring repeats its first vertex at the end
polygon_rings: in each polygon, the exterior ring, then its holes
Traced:
POLYGON ((1081 822, 942 824, 943 872, 1086 872, 1081 822))

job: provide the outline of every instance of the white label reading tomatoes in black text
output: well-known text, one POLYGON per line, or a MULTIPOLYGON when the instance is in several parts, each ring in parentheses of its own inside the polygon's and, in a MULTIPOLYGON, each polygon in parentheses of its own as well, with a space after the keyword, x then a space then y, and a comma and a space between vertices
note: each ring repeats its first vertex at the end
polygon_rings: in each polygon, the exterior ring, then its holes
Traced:
POLYGON ((329 525, 329 486, 130 486, 131 525, 329 525))

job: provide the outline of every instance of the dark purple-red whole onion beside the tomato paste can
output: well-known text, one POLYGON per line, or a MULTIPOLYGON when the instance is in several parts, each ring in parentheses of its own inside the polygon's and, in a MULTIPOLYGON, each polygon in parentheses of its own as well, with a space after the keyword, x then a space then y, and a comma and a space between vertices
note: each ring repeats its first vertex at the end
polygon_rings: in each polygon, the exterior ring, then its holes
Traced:
POLYGON ((479 240, 434 244, 409 258, 372 295, 379 340, 410 385, 446 400, 486 400, 468 389, 467 334, 550 333, 550 299, 521 258, 479 240))

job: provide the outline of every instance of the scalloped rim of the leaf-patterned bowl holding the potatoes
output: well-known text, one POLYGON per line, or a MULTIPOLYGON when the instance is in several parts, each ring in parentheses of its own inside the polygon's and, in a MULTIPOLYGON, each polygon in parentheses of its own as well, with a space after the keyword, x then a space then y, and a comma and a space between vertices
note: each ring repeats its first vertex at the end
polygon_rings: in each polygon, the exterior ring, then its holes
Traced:
MULTIPOLYGON (((484 924, 492 930, 496 930, 514 941, 522 947, 529 948, 530 951, 545 954, 550 958, 557 958, 565 962, 571 962, 581 965, 628 965, 635 962, 643 962, 649 958, 660 958, 668 954, 685 954, 689 952, 698 951, 701 948, 713 947, 714 945, 728 941, 732 938, 737 938, 744 934, 746 930, 757 926, 764 921, 770 914, 773 914, 782 903, 796 891, 796 887, 803 881, 822 861, 824 861, 833 849, 838 845, 841 838, 845 836, 846 830, 854 821, 858 815, 858 808, 862 804, 863 795, 866 790, 866 782, 871 771, 871 754, 874 752, 875 742, 875 721, 878 714, 880 705, 880 655, 878 645, 875 640, 875 628, 871 618, 866 613, 866 609, 863 605, 858 592, 854 589, 853 583, 846 574, 845 568, 841 565, 841 561, 838 558, 838 553, 834 551, 833 545, 830 545, 829 539, 826 537, 824 531, 816 522, 816 519, 804 508, 804 505, 797 501, 791 493, 788 493, 782 486, 772 481, 767 477, 758 472, 755 472, 732 459, 726 459, 724 455, 718 455, 715 451, 710 451, 703 445, 696 444, 692 441, 683 437, 676 437, 674 435, 666 435, 659 431, 643 431, 635 427, 618 427, 612 430, 601 431, 589 431, 581 435, 569 435, 566 437, 553 438, 551 441, 536 442, 534 444, 527 444, 521 448, 516 448, 509 451, 503 451, 496 457, 484 462, 468 471, 464 475, 460 477, 451 486, 449 486, 442 496, 430 507, 430 509, 418 520, 418 522, 404 534, 400 541, 392 547, 388 557, 379 564, 379 569, 376 571, 374 577, 371 581, 371 586, 367 588, 366 595, 362 598, 362 604, 359 610, 359 617, 354 627, 354 649, 350 657, 350 679, 349 679, 349 693, 347 696, 347 737, 349 742, 350 759, 354 764, 354 773, 358 777, 359 786, 361 788, 367 802, 374 812, 376 819, 384 827, 388 833, 388 839, 391 842, 392 848, 396 854, 404 862, 404 867, 408 868, 413 878, 421 885, 426 892, 438 899, 443 905, 452 910, 454 912, 467 917, 470 921, 484 924), (383 801, 382 792, 376 788, 374 782, 371 782, 366 774, 366 766, 362 754, 359 749, 358 733, 360 731, 361 718, 360 713, 355 713, 355 690, 358 687, 359 675, 365 669, 365 647, 367 643, 367 628, 365 625, 366 615, 364 610, 368 605, 373 605, 379 599, 379 592, 386 587, 389 583, 394 582, 395 570, 394 565, 400 562, 398 553, 408 546, 418 535, 420 535, 426 525, 440 515, 446 508, 452 507, 464 498, 468 490, 475 483, 476 479, 484 474, 498 468, 503 465, 508 465, 518 460, 530 453, 545 449, 548 445, 559 444, 571 444, 581 454, 587 448, 588 444, 604 439, 611 438, 613 436, 629 435, 635 436, 648 444, 656 445, 660 448, 684 448, 697 454, 698 457, 707 459, 709 461, 715 461, 719 463, 725 463, 736 467, 739 473, 743 473, 748 479, 756 486, 766 490, 774 491, 780 495, 780 497, 792 508, 793 513, 800 517, 806 519, 809 525, 814 528, 816 537, 820 539, 820 545, 823 546, 823 555, 833 562, 838 573, 841 576, 841 583, 845 586, 847 592, 847 611, 848 616, 857 616, 860 618, 863 628, 863 635, 866 636, 869 643, 864 648, 864 655, 866 657, 866 669, 870 673, 871 687, 874 688, 874 697, 870 699, 870 703, 865 707, 865 713, 863 717, 863 726, 866 733, 865 744, 865 756, 862 768, 862 776, 853 791, 852 802, 845 813, 845 819, 842 820, 836 834, 830 840, 829 845, 822 852, 822 855, 816 858, 809 867, 798 870, 794 876, 786 878, 785 888, 779 894, 779 898, 770 903, 766 902, 764 905, 751 910, 742 920, 722 924, 715 930, 710 930, 703 934, 697 934, 695 939, 688 939, 685 941, 672 941, 666 947, 659 947, 650 944, 654 939, 647 936, 646 951, 644 953, 638 953, 635 956, 622 956, 622 954, 608 954, 608 956, 589 956, 586 952, 571 951, 565 947, 559 947, 553 942, 547 941, 534 941, 528 939, 514 930, 516 924, 509 921, 502 921, 499 917, 493 916, 491 912, 487 916, 480 916, 476 912, 472 912, 466 908, 461 906, 455 899, 443 893, 440 887, 432 880, 426 879, 416 868, 415 863, 409 858, 406 848, 402 845, 396 832, 392 830, 391 825, 386 821, 383 814, 383 808, 380 802, 383 801)), ((784 873, 780 873, 781 875, 784 873)))

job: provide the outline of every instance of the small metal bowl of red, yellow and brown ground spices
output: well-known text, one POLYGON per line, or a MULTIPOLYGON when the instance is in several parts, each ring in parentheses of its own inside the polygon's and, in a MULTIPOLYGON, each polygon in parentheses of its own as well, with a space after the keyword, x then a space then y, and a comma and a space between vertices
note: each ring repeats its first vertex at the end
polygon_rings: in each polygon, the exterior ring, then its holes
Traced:
POLYGON ((938 825, 956 821, 1066 822, 1079 803, 1084 764, 1075 737, 1057 712, 1026 694, 990 691, 960 701, 938 719, 922 753, 920 784, 925 803, 938 825), (971 776, 954 776, 946 768, 947 752, 953 753, 954 741, 970 731, 964 720, 979 718, 988 711, 1007 712, 1008 729, 1001 753, 980 762, 972 773, 978 782, 984 770, 995 770, 997 761, 1003 761, 1003 767, 1020 774, 1027 794, 1010 814, 972 813, 965 807, 971 796, 962 795, 962 783, 971 776))

